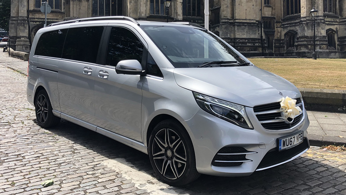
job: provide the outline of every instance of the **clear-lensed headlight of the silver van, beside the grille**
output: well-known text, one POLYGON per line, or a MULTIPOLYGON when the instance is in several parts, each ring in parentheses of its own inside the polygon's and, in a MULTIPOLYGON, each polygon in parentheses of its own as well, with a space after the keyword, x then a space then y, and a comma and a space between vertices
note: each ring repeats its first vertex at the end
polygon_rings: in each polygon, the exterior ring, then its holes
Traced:
POLYGON ((246 115, 245 106, 230 103, 228 101, 216 99, 196 92, 193 92, 193 95, 199 107, 201 107, 207 113, 240 127, 253 129, 253 126, 246 115))

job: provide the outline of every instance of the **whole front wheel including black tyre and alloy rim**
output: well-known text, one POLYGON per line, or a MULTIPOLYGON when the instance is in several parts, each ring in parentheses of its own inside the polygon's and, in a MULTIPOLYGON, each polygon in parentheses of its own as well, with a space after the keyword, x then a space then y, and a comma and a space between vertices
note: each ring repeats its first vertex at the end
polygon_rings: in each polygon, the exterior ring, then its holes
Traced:
POLYGON ((190 136, 184 126, 173 119, 154 127, 148 154, 154 171, 166 184, 181 186, 200 176, 190 136))

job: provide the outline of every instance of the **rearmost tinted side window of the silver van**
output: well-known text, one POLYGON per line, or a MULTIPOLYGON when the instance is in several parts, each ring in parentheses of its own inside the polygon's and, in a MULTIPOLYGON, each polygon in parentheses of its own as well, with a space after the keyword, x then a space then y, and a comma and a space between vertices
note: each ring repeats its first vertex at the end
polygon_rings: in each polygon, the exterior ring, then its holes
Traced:
POLYGON ((67 29, 43 33, 38 39, 34 55, 61 58, 67 29))

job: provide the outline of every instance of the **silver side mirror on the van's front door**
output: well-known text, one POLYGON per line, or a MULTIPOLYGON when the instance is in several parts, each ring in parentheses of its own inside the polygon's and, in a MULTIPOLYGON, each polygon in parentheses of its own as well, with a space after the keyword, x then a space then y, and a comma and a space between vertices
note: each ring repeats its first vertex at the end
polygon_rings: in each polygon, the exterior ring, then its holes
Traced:
POLYGON ((118 62, 115 71, 117 74, 142 74, 142 65, 138 60, 122 60, 118 62))

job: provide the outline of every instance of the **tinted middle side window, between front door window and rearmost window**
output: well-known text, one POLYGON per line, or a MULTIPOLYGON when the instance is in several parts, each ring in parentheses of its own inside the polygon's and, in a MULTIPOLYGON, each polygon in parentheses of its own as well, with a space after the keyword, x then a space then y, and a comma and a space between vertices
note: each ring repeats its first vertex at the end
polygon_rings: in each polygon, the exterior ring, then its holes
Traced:
POLYGON ((96 63, 102 32, 103 26, 70 28, 62 58, 96 63))

